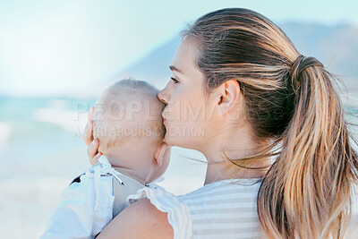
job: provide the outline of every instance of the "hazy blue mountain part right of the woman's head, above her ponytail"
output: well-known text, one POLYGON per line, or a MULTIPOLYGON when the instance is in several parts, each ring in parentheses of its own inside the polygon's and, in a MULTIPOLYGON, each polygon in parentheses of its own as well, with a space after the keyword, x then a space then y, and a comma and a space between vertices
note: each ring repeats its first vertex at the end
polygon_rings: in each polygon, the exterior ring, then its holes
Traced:
POLYGON ((332 73, 358 79, 358 28, 297 22, 281 27, 303 55, 318 58, 332 73))

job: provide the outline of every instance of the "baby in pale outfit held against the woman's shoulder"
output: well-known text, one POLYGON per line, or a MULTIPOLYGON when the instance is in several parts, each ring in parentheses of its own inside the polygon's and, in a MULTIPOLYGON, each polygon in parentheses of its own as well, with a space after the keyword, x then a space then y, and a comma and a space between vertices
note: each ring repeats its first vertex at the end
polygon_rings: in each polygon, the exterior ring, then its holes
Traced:
POLYGON ((68 186, 41 238, 94 238, 129 205, 127 197, 164 174, 170 148, 158 90, 123 80, 96 103, 93 137, 102 156, 68 186))

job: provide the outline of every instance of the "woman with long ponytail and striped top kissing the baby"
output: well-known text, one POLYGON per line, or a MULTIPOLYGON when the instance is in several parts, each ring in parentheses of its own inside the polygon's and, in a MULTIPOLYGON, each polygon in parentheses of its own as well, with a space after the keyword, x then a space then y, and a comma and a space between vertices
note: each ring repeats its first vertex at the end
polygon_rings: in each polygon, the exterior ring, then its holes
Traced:
MULTIPOLYGON (((184 31, 170 68, 158 94, 166 142, 203 153, 205 185, 179 197, 143 190, 98 238, 345 235, 357 154, 317 59, 264 16, 233 8, 184 31), (184 126, 205 133, 173 133, 184 126)), ((90 158, 96 150, 92 143, 90 158)))

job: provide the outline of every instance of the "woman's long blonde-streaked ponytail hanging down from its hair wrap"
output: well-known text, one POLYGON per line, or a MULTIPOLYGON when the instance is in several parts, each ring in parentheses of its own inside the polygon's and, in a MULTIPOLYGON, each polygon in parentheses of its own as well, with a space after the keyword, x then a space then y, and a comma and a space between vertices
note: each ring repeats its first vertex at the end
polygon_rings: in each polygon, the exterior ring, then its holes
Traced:
POLYGON ((299 56, 290 78, 294 115, 260 186, 260 222, 272 238, 341 238, 358 178, 343 108, 333 77, 317 59, 299 56))

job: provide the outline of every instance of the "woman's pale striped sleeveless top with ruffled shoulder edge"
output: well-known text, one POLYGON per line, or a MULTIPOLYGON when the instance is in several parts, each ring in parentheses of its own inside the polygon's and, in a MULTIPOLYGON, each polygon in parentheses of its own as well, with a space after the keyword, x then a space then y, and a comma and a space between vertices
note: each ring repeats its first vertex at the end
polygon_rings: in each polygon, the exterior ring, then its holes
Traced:
POLYGON ((174 238, 263 238, 256 208, 260 179, 229 179, 175 196, 143 188, 128 200, 143 198, 167 212, 174 238))

